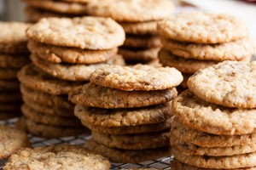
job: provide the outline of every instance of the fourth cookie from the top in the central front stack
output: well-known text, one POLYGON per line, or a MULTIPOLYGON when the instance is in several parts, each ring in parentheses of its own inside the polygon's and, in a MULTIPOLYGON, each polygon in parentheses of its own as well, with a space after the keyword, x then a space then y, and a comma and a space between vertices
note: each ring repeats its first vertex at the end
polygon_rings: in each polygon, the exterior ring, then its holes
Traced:
POLYGON ((125 126, 125 127, 102 127, 102 126, 96 126, 90 122, 85 122, 83 120, 81 120, 81 122, 84 125, 84 127, 88 127, 91 131, 96 133, 133 134, 133 133, 160 132, 166 129, 170 129, 172 118, 167 119, 165 122, 136 125, 136 126, 125 126))

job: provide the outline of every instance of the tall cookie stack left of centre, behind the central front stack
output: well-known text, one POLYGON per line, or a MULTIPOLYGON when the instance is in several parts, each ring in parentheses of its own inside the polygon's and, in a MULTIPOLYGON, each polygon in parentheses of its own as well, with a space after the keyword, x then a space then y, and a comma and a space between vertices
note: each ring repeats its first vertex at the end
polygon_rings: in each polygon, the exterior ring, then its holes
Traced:
POLYGON ((116 53, 125 32, 112 19, 84 17, 42 19, 26 34, 33 64, 19 78, 28 131, 48 138, 85 133, 67 94, 96 68, 124 64, 116 53))

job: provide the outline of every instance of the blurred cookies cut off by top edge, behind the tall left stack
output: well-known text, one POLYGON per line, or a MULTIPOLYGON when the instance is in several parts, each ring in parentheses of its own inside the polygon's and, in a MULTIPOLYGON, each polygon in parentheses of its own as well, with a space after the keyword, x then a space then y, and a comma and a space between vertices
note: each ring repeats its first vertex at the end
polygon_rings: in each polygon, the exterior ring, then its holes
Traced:
POLYGON ((69 17, 87 15, 89 0, 23 0, 24 10, 29 22, 37 22, 44 17, 69 17))

